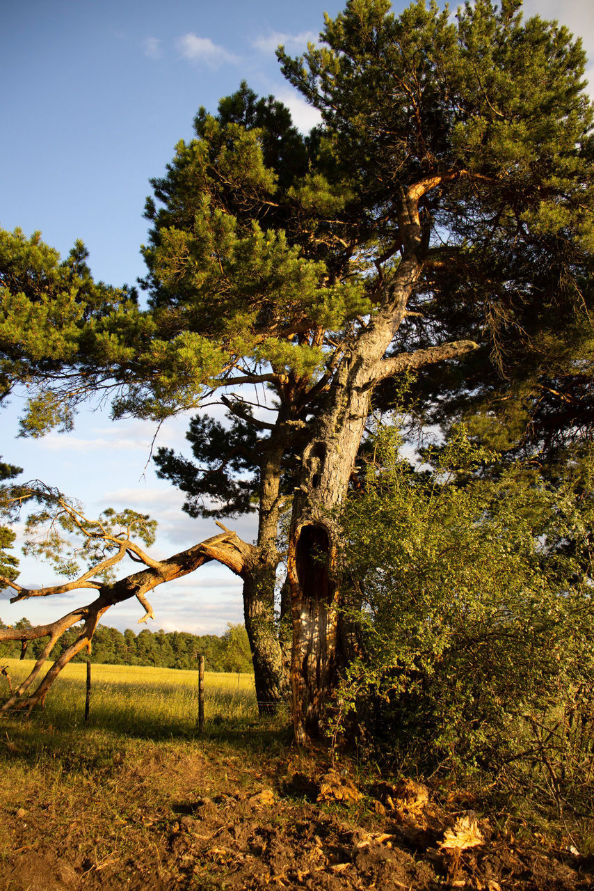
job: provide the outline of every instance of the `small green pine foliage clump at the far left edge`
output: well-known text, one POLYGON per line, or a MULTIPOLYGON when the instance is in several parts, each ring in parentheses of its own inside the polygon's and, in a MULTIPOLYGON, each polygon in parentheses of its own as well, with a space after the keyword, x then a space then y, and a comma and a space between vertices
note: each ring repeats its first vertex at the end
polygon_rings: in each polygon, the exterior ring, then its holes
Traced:
POLYGON ((134 290, 94 282, 87 259, 82 241, 61 260, 41 233, 0 229, 0 403, 28 388, 22 435, 72 428, 78 402, 107 382, 105 320, 134 315, 134 290))

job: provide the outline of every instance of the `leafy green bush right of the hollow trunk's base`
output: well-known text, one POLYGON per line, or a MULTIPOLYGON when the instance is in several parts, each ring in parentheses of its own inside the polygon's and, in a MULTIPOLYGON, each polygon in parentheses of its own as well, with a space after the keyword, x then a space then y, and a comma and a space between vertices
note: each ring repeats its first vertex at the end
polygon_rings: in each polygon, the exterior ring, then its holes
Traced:
POLYGON ((360 641, 337 732, 408 769, 487 771, 559 803, 594 768, 592 455, 553 485, 493 472, 463 430, 424 472, 399 446, 379 430, 343 517, 360 641))

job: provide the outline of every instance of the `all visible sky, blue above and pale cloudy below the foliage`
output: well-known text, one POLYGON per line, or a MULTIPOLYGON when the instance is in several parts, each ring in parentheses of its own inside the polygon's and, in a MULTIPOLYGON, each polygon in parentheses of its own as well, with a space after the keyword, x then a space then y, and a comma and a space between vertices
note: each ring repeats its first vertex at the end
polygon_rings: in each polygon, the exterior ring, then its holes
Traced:
MULTIPOLYGON (((323 11, 343 3, 301 0, 4 0, 0 78, 4 86, 0 139, 0 225, 19 226, 68 253, 81 238, 94 276, 112 284, 134 283, 144 272, 139 246, 149 178, 161 176, 180 138, 191 137, 200 105, 216 110, 221 96, 245 78, 258 94, 275 94, 304 131, 316 122, 281 76, 274 49, 291 53, 317 39, 323 11)), ((395 4, 395 11, 404 4, 395 4)), ((561 18, 584 38, 594 60, 591 0, 530 0, 527 12, 561 18)), ((594 83, 594 69, 590 82, 594 83)), ((89 515, 102 508, 134 507, 159 519, 153 553, 167 556, 207 535, 212 522, 191 520, 182 497, 159 481, 149 459, 150 423, 111 423, 101 410, 81 413, 73 434, 16 439, 20 398, 2 414, 0 454, 24 468, 24 478, 44 478, 83 501, 89 515)), ((187 418, 159 433, 159 444, 183 447, 187 418)), ((251 540, 253 520, 232 524, 251 540)), ((51 584, 48 568, 22 561, 20 584, 51 584)), ((89 592, 88 595, 91 593, 89 592)), ((11 606, 0 594, 0 617, 37 623, 82 602, 68 597, 11 606)), ((86 597, 82 593, 82 597, 86 597)), ((89 596, 89 600, 92 599, 89 596)), ((224 569, 199 570, 152 593, 155 628, 197 633, 224 631, 242 619, 240 584, 224 569)), ((142 610, 122 604, 106 624, 134 627, 142 610)))

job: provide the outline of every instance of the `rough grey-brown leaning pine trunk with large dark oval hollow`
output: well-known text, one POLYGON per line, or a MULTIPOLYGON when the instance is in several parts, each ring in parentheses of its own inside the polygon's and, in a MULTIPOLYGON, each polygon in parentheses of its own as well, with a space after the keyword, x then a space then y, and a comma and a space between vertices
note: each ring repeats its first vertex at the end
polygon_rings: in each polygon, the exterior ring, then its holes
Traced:
POLYGON ((386 358, 427 254, 428 232, 419 220, 419 199, 439 182, 432 177, 411 186, 403 195, 399 214, 403 257, 379 295, 378 312, 339 364, 311 421, 311 436, 302 454, 288 558, 293 722, 296 740, 301 744, 323 735, 324 714, 340 666, 340 585, 332 513, 346 495, 373 388, 398 371, 461 356, 476 347, 471 341, 458 341, 386 358))

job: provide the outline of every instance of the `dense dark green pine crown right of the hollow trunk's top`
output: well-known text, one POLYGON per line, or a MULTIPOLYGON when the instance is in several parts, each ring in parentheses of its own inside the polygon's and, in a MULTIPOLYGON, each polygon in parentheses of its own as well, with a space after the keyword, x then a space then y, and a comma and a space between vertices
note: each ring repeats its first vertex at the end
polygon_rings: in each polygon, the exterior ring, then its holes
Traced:
MULTIPOLYGON (((419 316, 394 351, 468 337, 482 348, 419 372, 424 420, 478 410, 501 435, 511 425, 509 448, 536 451, 591 430, 594 142, 580 40, 523 19, 518 0, 456 16, 352 0, 323 37, 301 59, 280 53, 283 71, 351 159, 384 256, 398 189, 448 177, 422 202, 427 265, 408 307, 419 316)), ((391 387, 378 409, 394 404, 391 387)))

